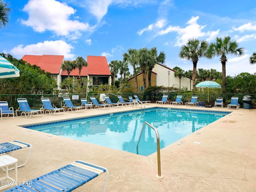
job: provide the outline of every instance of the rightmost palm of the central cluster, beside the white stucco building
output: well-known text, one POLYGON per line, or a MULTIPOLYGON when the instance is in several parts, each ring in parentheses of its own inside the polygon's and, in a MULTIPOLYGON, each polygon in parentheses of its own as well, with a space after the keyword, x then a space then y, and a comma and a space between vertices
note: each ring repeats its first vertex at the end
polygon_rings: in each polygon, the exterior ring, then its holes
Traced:
POLYGON ((166 55, 163 51, 157 55, 156 47, 149 50, 149 54, 152 55, 152 61, 148 62, 148 86, 151 86, 151 73, 156 63, 163 64, 165 62, 166 55))

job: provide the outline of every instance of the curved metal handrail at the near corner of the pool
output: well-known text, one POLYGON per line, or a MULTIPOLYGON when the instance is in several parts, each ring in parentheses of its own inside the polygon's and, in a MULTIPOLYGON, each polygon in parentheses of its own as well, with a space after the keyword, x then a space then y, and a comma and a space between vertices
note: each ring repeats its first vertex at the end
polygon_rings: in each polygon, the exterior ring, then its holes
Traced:
POLYGON ((138 146, 139 146, 139 142, 140 142, 140 138, 142 136, 142 133, 143 133, 143 130, 145 128, 145 125, 148 125, 150 128, 154 129, 154 131, 156 132, 156 149, 157 149, 157 166, 158 166, 158 174, 156 175, 156 178, 163 178, 164 176, 161 175, 161 162, 160 162, 160 141, 159 141, 159 134, 158 134, 158 130, 150 125, 148 122, 144 122, 143 126, 142 126, 142 130, 140 132, 140 137, 138 139, 138 143, 137 143, 137 146, 136 146, 136 149, 137 149, 137 154, 139 154, 138 152, 138 146))

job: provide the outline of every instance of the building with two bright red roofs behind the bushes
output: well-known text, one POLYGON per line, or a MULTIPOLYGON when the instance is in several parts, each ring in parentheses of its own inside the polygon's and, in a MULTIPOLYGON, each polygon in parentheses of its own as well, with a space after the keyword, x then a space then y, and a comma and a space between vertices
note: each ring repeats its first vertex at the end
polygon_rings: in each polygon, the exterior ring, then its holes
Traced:
MULTIPOLYGON (((64 61, 63 55, 24 55, 22 60, 31 65, 39 66, 42 70, 50 72, 57 81, 58 89, 60 83, 68 77, 67 71, 62 71, 61 65, 64 61)), ((111 72, 105 56, 87 56, 87 67, 81 70, 81 77, 90 80, 90 86, 101 84, 111 84, 111 72)), ((79 78, 79 70, 74 69, 70 72, 70 77, 79 78)))

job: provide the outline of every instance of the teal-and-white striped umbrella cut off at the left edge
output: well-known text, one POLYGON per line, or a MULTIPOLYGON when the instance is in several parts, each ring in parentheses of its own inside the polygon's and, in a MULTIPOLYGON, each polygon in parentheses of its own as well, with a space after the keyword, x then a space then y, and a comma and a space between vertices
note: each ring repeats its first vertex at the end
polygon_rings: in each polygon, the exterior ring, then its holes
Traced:
POLYGON ((20 70, 0 55, 0 78, 19 77, 20 70))

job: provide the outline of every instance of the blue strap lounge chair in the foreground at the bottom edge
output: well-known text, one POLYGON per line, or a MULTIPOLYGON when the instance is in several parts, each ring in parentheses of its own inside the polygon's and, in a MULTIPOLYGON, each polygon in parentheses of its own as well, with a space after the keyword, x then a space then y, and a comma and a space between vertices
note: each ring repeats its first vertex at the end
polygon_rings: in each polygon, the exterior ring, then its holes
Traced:
POLYGON ((108 180, 107 168, 82 160, 34 178, 26 184, 10 188, 5 192, 70 192, 104 172, 107 173, 104 192, 108 180))

